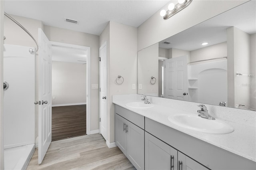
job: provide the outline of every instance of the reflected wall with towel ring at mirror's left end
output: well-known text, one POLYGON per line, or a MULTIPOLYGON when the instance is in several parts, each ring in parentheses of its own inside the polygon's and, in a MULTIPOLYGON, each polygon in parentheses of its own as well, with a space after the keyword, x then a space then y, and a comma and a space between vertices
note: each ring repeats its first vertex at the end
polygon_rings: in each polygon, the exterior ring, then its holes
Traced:
POLYGON ((158 96, 158 43, 138 51, 138 94, 158 96), (156 78, 154 85, 151 77, 156 78))

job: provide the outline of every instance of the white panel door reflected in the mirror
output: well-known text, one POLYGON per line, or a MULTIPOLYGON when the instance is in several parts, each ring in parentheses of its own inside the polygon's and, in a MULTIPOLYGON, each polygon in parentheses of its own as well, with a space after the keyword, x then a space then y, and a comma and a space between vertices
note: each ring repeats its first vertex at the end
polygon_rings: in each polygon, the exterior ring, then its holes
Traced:
POLYGON ((187 56, 165 60, 165 97, 187 100, 188 91, 187 56))

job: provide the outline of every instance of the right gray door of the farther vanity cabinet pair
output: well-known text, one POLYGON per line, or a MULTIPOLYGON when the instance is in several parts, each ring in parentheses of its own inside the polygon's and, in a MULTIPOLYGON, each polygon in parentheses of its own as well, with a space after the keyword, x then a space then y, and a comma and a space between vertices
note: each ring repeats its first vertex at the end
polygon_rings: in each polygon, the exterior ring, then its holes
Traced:
POLYGON ((144 130, 127 121, 127 155, 134 167, 144 170, 144 130))

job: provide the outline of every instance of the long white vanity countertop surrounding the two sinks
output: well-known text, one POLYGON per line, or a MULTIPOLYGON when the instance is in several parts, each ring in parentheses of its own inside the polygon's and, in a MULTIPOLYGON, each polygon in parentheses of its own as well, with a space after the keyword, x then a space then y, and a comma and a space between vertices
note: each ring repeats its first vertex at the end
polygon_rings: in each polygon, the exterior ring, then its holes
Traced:
MULTIPOLYGON (((127 100, 127 99, 114 99, 113 103, 138 113, 144 117, 152 119, 158 123, 162 123, 168 127, 179 130, 180 132, 184 132, 190 136, 213 144, 214 146, 218 146, 225 150, 228 150, 234 154, 247 158, 256 162, 256 128, 251 126, 246 126, 239 123, 234 123, 230 121, 224 121, 225 123, 231 125, 234 128, 234 132, 228 134, 211 134, 205 132, 198 132, 195 130, 190 130, 187 128, 182 128, 177 125, 174 125, 170 121, 168 121, 168 117, 173 114, 183 113, 183 114, 191 114, 186 111, 172 109, 170 107, 165 107, 162 105, 154 105, 153 108, 150 109, 134 109, 131 107, 127 107, 126 103, 135 102, 136 100, 127 100)), ((138 102, 138 100, 137 100, 138 102)), ((141 102, 141 101, 140 101, 141 102)), ((196 113, 194 113, 196 114, 196 113)), ((203 118, 202 118, 203 119, 203 118)), ((223 121, 223 120, 222 120, 223 121)))

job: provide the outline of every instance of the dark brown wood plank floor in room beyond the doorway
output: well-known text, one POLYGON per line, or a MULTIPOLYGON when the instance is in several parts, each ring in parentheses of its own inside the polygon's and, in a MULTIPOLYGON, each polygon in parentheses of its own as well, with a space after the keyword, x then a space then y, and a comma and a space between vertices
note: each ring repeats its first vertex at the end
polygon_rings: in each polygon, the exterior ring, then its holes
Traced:
POLYGON ((52 107, 52 141, 86 134, 86 105, 52 107))

